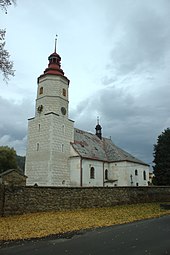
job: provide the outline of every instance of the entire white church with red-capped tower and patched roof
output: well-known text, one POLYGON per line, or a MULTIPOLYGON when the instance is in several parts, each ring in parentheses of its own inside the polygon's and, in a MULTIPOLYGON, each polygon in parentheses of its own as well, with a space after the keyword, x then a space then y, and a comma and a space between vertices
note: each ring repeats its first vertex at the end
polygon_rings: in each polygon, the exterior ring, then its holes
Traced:
POLYGON ((37 79, 35 117, 28 120, 27 185, 63 187, 147 186, 149 165, 69 119, 69 79, 56 52, 37 79))

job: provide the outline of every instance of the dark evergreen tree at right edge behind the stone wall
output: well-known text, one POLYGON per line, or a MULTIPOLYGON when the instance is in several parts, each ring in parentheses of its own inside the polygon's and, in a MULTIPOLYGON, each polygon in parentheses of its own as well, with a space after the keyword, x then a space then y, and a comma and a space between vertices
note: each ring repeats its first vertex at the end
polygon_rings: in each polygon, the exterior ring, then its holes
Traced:
POLYGON ((170 128, 158 136, 154 145, 154 184, 170 185, 170 128))

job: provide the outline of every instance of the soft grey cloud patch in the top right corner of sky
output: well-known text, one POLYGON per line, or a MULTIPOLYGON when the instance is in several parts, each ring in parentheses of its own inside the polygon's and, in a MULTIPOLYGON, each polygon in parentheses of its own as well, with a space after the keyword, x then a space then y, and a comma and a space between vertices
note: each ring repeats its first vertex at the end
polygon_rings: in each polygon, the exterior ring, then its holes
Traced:
POLYGON ((125 74, 160 68, 170 54, 170 13, 166 5, 159 8, 158 1, 152 4, 144 1, 127 11, 119 25, 119 39, 114 42, 111 52, 112 69, 125 74))

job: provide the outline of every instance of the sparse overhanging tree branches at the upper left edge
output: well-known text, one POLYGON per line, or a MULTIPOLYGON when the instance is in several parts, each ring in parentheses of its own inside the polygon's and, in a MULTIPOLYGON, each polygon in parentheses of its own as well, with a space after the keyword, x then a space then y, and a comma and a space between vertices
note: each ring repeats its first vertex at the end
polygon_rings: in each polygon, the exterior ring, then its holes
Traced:
MULTIPOLYGON (((7 13, 8 6, 15 3, 15 0, 0 0, 0 9, 7 13)), ((0 71, 4 80, 8 80, 10 75, 14 76, 14 70, 13 62, 9 59, 9 52, 5 50, 5 33, 5 29, 0 29, 0 71)))

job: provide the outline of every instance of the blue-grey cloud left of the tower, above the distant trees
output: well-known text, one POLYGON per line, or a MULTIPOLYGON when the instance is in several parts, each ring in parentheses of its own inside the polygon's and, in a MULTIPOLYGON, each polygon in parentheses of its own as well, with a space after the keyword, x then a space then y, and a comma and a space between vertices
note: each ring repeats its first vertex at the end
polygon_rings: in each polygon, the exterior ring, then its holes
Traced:
POLYGON ((21 103, 0 98, 0 145, 14 147, 24 155, 26 150, 27 119, 33 105, 28 99, 21 103))

